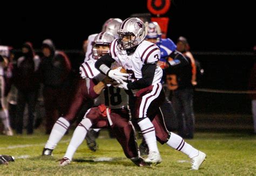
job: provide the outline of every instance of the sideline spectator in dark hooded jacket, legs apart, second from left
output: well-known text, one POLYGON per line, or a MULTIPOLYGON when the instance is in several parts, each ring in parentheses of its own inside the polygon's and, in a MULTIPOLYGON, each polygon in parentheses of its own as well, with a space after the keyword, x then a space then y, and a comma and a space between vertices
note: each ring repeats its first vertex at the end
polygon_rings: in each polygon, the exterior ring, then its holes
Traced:
POLYGON ((26 42, 22 46, 23 56, 18 58, 17 65, 14 66, 14 83, 18 89, 17 112, 16 112, 16 132, 22 134, 23 116, 25 105, 28 103, 28 123, 26 132, 33 133, 33 122, 35 118, 35 106, 39 89, 38 67, 40 59, 33 51, 32 44, 26 42))

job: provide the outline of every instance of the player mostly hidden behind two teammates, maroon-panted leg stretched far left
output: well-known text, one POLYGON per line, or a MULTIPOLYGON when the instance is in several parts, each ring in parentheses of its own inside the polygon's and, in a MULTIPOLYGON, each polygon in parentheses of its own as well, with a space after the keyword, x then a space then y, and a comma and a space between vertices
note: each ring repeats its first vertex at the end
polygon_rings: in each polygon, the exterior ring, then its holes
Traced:
MULTIPOLYGON (((114 29, 117 31, 119 29, 118 26, 120 26, 121 21, 118 18, 114 18, 116 20, 111 20, 111 23, 107 23, 110 26, 105 27, 104 29, 108 29, 109 31, 113 32, 114 29)), ((87 48, 87 59, 85 58, 85 62, 82 64, 80 68, 87 69, 88 74, 94 74, 91 72, 90 67, 87 67, 88 63, 86 62, 87 60, 91 63, 94 64, 95 59, 92 58, 92 41, 95 39, 95 36, 97 34, 91 37, 89 37, 90 41, 88 44, 87 48)), ((97 71, 97 70, 96 70, 97 71)), ((62 117, 59 117, 58 120, 56 121, 55 125, 53 125, 52 131, 50 133, 48 142, 45 144, 45 147, 43 149, 42 155, 52 155, 53 149, 55 149, 56 145, 58 144, 59 140, 64 136, 65 132, 68 130, 70 124, 73 123, 73 120, 77 117, 78 112, 82 108, 82 105, 86 102, 87 104, 89 101, 92 99, 96 98, 98 96, 98 92, 95 91, 95 86, 97 87, 104 87, 103 82, 99 82, 97 85, 94 84, 92 79, 79 79, 78 83, 76 86, 76 90, 72 92, 73 95, 73 100, 70 103, 69 109, 66 114, 62 115, 62 117)), ((92 150, 92 148, 90 147, 92 150)))

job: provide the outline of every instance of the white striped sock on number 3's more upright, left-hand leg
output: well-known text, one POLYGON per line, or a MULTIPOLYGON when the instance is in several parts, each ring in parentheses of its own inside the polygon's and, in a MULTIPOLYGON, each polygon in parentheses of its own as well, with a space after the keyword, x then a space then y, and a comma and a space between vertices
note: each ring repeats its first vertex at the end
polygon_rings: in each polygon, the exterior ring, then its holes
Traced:
POLYGON ((157 138, 156 131, 154 130, 154 126, 149 118, 145 118, 142 121, 138 122, 139 128, 142 131, 142 135, 145 139, 147 146, 149 147, 149 152, 157 152, 157 138))

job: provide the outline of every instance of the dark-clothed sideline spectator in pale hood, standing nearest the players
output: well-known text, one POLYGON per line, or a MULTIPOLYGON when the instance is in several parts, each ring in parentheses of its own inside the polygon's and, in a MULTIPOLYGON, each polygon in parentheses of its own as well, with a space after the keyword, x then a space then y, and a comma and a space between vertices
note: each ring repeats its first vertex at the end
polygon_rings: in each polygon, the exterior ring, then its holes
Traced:
POLYGON ((64 52, 55 50, 50 39, 43 41, 42 52, 39 74, 44 85, 46 134, 50 134, 58 117, 68 109, 71 63, 64 52))

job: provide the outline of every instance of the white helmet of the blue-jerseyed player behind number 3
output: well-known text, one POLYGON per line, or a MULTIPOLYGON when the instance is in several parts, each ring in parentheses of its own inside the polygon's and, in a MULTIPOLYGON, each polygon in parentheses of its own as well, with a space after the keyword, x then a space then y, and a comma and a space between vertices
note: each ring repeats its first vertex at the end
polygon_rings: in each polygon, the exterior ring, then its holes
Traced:
POLYGON ((157 42, 161 40, 161 29, 157 22, 146 22, 146 39, 156 38, 157 42))

